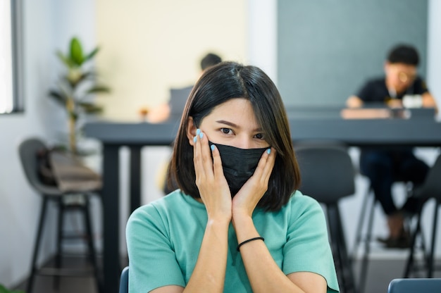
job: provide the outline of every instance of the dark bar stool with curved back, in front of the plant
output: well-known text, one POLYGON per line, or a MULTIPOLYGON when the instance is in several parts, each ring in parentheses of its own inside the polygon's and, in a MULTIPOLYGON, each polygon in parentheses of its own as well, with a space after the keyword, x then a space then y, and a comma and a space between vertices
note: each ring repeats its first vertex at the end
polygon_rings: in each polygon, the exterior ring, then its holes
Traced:
MULTIPOLYGON (((85 223, 85 239, 87 240, 88 258, 92 264, 92 273, 97 282, 97 287, 100 290, 99 284, 99 270, 97 267, 96 252, 94 248, 92 226, 90 223, 89 214, 89 197, 95 190, 86 190, 84 192, 63 192, 56 185, 49 185, 42 180, 39 176, 39 158, 37 154, 42 151, 46 151, 47 146, 42 140, 37 138, 25 139, 20 143, 18 147, 18 153, 20 155, 20 161, 23 166, 23 170, 27 177, 27 181, 30 183, 33 189, 38 192, 42 198, 42 208, 39 215, 39 223, 37 226, 37 238, 35 239, 35 247, 32 254, 32 262, 30 269, 30 278, 27 282, 27 293, 32 292, 32 285, 34 283, 35 275, 53 275, 55 277, 54 285, 58 287, 59 278, 61 276, 82 276, 85 275, 85 270, 73 270, 68 268, 61 268, 61 242, 62 239, 72 238, 71 235, 66 235, 63 232, 63 216, 68 211, 81 211, 84 216, 85 223), (56 243, 56 258, 55 268, 39 268, 37 266, 37 258, 39 253, 39 247, 42 242, 42 230, 44 226, 44 218, 46 216, 46 210, 49 206, 49 202, 54 202, 58 208, 58 227, 57 227, 57 243, 56 243), (69 237, 70 236, 70 237, 69 237)), ((87 275, 89 275, 88 272, 87 275)))

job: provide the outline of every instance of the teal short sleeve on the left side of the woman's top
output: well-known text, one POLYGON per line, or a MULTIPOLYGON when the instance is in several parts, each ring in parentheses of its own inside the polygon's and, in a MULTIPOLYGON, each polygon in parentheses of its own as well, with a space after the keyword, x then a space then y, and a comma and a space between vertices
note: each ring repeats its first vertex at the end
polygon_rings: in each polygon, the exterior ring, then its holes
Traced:
POLYGON ((128 220, 129 292, 147 293, 166 285, 185 287, 170 244, 167 223, 154 205, 137 208, 128 220))

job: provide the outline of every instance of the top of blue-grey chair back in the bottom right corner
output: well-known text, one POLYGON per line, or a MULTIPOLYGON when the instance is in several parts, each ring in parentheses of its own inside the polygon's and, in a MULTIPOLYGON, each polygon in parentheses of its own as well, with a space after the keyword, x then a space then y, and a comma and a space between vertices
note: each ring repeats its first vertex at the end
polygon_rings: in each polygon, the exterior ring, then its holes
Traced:
POLYGON ((394 279, 389 283, 387 293, 439 293, 441 278, 394 279))

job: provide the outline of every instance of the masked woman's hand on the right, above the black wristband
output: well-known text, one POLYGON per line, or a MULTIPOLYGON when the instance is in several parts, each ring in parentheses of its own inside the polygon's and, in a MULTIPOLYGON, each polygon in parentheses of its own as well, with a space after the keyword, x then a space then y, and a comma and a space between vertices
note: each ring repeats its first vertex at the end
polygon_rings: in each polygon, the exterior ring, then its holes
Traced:
MULTIPOLYGON (((268 149, 269 150, 269 149, 268 149)), ((265 151, 254 174, 245 182, 242 188, 232 199, 232 217, 251 216, 260 199, 268 189, 268 181, 275 163, 276 151, 271 148, 270 154, 265 151)))

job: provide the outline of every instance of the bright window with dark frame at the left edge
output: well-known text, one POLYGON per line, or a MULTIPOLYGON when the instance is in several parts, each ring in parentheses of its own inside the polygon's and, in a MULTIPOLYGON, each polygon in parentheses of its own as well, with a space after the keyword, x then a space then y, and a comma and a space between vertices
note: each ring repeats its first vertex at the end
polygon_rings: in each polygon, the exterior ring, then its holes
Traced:
POLYGON ((0 1, 0 114, 23 111, 20 1, 0 1))

